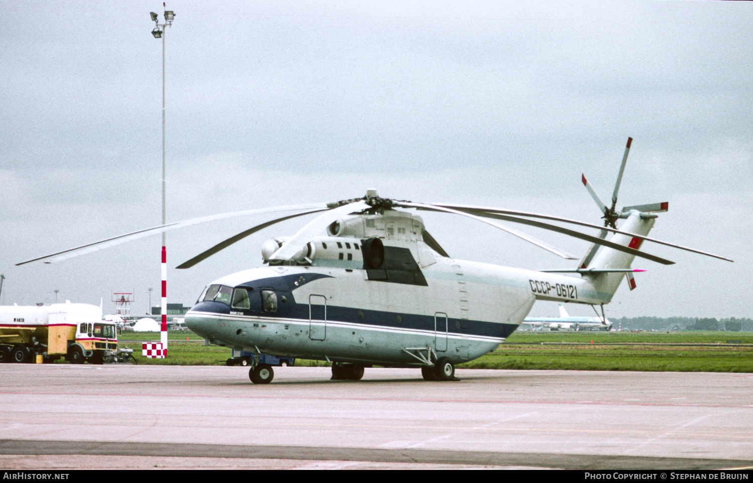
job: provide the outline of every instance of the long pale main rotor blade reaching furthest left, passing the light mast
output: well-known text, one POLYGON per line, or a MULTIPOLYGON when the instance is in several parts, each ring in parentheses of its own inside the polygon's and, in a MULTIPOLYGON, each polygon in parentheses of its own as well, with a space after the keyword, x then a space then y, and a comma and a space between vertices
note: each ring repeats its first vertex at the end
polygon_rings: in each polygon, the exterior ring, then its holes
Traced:
POLYGON ((44 260, 46 258, 51 258, 51 257, 56 257, 56 258, 53 258, 53 260, 50 260, 50 262, 45 262, 45 263, 59 262, 61 260, 67 260, 69 258, 78 257, 79 255, 89 254, 93 251, 102 250, 103 248, 109 248, 114 245, 120 245, 121 243, 132 242, 133 240, 137 240, 139 238, 144 238, 146 236, 151 236, 151 235, 158 235, 162 232, 168 232, 172 229, 183 228, 184 226, 191 226, 197 223, 206 223, 208 221, 214 221, 214 220, 224 220, 225 218, 232 218, 232 217, 244 217, 244 216, 248 216, 252 214, 273 213, 275 211, 311 210, 311 209, 317 209, 317 208, 326 209, 327 205, 325 203, 312 203, 309 205, 276 206, 273 208, 258 208, 255 210, 232 211, 230 213, 213 214, 208 217, 191 218, 191 220, 176 221, 174 223, 167 223, 165 225, 154 226, 148 229, 141 229, 137 232, 126 233, 125 235, 114 236, 112 238, 106 238, 104 240, 100 240, 99 242, 89 243, 87 245, 81 245, 80 247, 70 248, 69 250, 59 251, 57 253, 50 254, 50 255, 44 255, 44 257, 37 257, 32 260, 26 260, 25 262, 17 263, 16 265, 17 266, 24 265, 26 263, 32 263, 38 260, 44 260))

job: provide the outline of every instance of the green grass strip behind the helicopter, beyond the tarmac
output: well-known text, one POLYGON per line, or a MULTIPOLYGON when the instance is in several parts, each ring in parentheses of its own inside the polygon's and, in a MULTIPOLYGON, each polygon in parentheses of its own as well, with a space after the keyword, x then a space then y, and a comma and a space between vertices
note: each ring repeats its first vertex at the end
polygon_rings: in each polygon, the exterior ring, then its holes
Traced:
MULTIPOLYGON (((160 340, 160 333, 123 333, 139 364, 221 366, 230 349, 205 346, 190 331, 171 331, 166 359, 141 355, 141 342, 160 340)), ((297 366, 328 366, 296 360, 297 366)), ((595 371, 753 372, 753 333, 514 333, 489 354, 464 363, 473 369, 566 369, 595 371), (731 341, 731 343, 730 343, 731 341), (739 343, 737 343, 739 341, 739 343)))

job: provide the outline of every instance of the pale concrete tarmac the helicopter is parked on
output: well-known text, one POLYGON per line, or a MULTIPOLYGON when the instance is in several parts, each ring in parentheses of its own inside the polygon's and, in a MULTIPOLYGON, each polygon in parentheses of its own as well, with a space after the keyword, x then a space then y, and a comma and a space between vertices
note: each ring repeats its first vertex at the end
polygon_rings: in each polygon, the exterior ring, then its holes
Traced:
POLYGON ((0 364, 0 469, 753 468, 753 374, 0 364))

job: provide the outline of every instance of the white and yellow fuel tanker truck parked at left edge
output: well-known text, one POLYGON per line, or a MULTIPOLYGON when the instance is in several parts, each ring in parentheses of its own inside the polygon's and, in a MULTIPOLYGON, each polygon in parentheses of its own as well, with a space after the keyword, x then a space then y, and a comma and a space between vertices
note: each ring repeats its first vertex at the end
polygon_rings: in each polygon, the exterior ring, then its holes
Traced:
POLYGON ((117 330, 102 308, 85 303, 0 306, 0 362, 101 364, 117 351, 117 330))

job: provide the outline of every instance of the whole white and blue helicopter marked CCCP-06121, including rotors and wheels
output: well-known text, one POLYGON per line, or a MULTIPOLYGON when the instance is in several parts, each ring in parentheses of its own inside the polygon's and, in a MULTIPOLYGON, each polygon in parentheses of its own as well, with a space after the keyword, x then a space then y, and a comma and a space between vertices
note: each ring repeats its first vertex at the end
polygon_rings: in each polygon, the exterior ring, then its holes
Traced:
MULTIPOLYGON (((263 266, 208 284, 185 314, 187 327, 213 345, 327 360, 333 379, 358 380, 364 367, 390 366, 416 367, 425 380, 450 381, 456 364, 474 360, 505 341, 536 300, 601 305, 605 320, 603 305, 611 301, 622 279, 627 276, 631 290, 635 287, 633 272, 642 271, 630 268, 635 257, 673 263, 639 251, 645 240, 729 260, 648 238, 657 213, 667 211, 666 202, 615 209, 631 141, 628 138, 611 207, 582 178, 602 211, 604 226, 499 208, 400 201, 368 190, 358 199, 170 223, 35 260, 56 256, 53 261, 62 260, 82 248, 93 251, 203 221, 302 211, 228 238, 177 267, 185 269, 274 223, 320 213, 293 236, 265 242, 263 266), (549 229, 593 245, 572 270, 532 271, 457 260, 429 235, 421 217, 398 208, 471 217, 572 260, 577 259, 487 218, 549 229), (624 221, 617 229, 620 219, 624 221), (596 228, 599 235, 543 220, 596 228)), ((255 384, 265 384, 274 372, 271 366, 254 362, 248 375, 255 384)))

